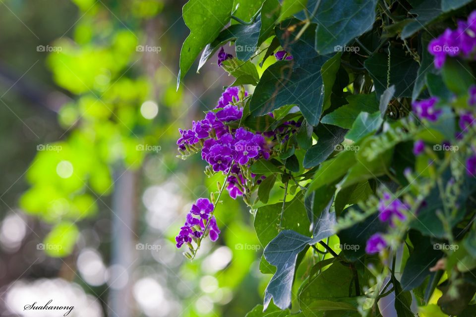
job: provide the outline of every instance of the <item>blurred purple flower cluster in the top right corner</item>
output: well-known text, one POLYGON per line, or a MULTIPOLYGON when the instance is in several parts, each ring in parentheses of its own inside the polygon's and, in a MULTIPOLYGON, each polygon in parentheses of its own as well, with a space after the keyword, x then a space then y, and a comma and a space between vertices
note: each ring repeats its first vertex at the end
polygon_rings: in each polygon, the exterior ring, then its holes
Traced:
POLYGON ((456 30, 446 29, 428 45, 428 52, 435 56, 436 68, 441 68, 446 57, 473 59, 476 48, 476 11, 470 14, 468 21, 458 21, 456 30))

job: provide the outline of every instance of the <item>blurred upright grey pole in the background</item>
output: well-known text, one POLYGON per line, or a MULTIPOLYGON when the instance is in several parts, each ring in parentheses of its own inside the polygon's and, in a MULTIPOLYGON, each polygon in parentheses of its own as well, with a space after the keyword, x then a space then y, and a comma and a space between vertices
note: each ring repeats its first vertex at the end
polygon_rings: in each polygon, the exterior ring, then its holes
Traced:
POLYGON ((109 316, 134 316, 132 273, 134 272, 137 214, 137 172, 118 169, 115 175, 112 213, 112 252, 109 316))

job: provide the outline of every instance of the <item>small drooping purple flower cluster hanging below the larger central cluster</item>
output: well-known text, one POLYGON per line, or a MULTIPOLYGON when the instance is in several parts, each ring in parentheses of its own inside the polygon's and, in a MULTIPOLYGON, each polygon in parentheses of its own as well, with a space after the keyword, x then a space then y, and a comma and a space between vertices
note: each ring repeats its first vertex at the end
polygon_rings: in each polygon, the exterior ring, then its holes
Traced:
POLYGON ((206 198, 197 199, 187 217, 185 223, 180 228, 180 232, 175 237, 177 248, 184 243, 191 243, 193 239, 199 239, 208 230, 210 240, 217 241, 220 229, 218 229, 217 219, 213 213, 214 206, 206 198))

